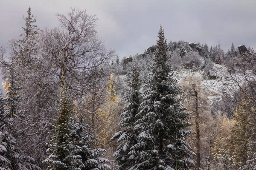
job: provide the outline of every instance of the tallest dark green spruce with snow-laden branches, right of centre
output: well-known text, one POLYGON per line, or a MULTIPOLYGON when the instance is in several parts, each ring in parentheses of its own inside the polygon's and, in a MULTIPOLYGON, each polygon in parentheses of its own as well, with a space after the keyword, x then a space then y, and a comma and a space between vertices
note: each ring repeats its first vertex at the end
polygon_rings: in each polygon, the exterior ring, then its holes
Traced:
POLYGON ((167 44, 162 26, 158 33, 152 74, 148 79, 134 130, 139 142, 131 147, 134 170, 189 170, 194 166, 186 136, 193 133, 187 122, 190 113, 180 103, 181 89, 176 85, 168 65, 167 44))

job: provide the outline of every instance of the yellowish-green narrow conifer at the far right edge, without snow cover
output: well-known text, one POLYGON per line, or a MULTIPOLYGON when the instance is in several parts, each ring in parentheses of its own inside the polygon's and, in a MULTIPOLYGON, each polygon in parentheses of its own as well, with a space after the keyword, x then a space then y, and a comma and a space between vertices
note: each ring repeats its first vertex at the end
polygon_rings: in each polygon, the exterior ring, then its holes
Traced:
MULTIPOLYGON (((250 110, 253 110, 252 102, 250 102, 251 99, 244 92, 246 92, 245 85, 243 87, 241 105, 237 105, 232 120, 231 155, 236 169, 248 164, 250 161, 247 160, 251 160, 254 157, 251 153, 256 149, 253 148, 255 147, 255 127, 248 123, 254 120, 254 115, 250 112, 250 110)), ((253 163, 253 161, 251 163, 253 163)))

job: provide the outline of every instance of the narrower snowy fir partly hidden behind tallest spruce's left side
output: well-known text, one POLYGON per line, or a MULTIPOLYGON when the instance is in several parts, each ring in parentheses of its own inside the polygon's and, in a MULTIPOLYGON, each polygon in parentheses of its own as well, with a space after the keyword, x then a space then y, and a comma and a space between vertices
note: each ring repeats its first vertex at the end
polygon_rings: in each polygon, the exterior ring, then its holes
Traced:
POLYGON ((117 147, 114 156, 118 161, 119 166, 117 170, 128 170, 134 167, 134 155, 130 152, 130 148, 137 144, 138 133, 134 130, 134 123, 136 122, 135 115, 138 113, 140 106, 140 80, 137 60, 134 59, 131 66, 131 71, 128 74, 128 86, 130 89, 127 91, 125 101, 128 103, 121 114, 122 120, 119 127, 123 128, 122 131, 117 132, 111 140, 117 139, 120 145, 117 147))

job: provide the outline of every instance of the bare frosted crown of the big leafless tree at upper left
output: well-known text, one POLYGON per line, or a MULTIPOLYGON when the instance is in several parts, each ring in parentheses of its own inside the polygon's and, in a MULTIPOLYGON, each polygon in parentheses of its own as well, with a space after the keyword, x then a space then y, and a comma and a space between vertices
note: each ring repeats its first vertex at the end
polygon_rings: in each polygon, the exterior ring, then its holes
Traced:
POLYGON ((86 11, 72 9, 66 15, 57 14, 59 28, 46 29, 41 34, 44 56, 55 65, 61 91, 70 88, 84 94, 87 75, 96 67, 106 64, 113 54, 97 36, 96 17, 86 11))

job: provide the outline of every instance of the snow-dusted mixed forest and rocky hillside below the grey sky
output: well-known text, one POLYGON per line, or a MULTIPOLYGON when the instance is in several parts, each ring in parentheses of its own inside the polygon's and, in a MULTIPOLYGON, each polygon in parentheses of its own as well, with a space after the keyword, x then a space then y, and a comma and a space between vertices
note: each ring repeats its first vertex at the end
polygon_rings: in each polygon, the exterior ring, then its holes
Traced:
POLYGON ((72 8, 0 46, 1 170, 254 170, 256 53, 232 43, 106 48, 72 8), (8 51, 8 52, 7 52, 8 51))

